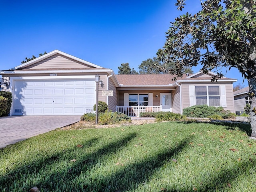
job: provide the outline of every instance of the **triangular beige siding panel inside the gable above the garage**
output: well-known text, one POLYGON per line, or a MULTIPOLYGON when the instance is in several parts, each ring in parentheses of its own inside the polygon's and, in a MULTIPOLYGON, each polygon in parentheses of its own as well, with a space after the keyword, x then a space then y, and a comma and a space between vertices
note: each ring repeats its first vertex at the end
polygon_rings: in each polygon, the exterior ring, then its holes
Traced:
POLYGON ((74 59, 68 58, 61 54, 55 54, 46 58, 42 61, 36 62, 30 66, 27 66, 23 69, 48 69, 48 68, 56 68, 56 69, 64 69, 64 68, 88 68, 86 64, 78 62, 74 59))

